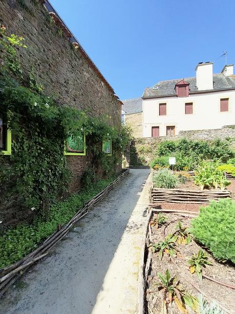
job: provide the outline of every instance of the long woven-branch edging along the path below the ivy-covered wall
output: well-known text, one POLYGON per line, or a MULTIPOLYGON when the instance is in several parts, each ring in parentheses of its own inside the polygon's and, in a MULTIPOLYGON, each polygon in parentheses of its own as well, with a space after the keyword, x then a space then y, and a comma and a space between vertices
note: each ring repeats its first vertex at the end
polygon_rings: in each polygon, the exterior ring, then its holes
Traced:
POLYGON ((105 187, 103 191, 98 193, 90 201, 84 204, 84 206, 79 210, 73 218, 58 231, 55 231, 49 238, 47 238, 37 249, 25 256, 18 262, 6 266, 0 269, 0 298, 7 291, 7 289, 19 278, 25 271, 36 261, 44 258, 49 253, 49 250, 62 240, 70 231, 71 227, 82 217, 87 215, 91 208, 97 204, 100 200, 104 198, 114 187, 122 180, 127 174, 130 173, 130 169, 122 170, 122 173, 105 187))

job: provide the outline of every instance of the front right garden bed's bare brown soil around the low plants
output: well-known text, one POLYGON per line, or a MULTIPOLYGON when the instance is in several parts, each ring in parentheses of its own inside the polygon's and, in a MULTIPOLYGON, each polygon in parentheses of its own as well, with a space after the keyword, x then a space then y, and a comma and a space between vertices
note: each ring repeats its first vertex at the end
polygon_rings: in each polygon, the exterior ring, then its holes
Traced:
MULTIPOLYGON (((206 265, 203 268, 203 280, 201 281, 196 273, 190 274, 188 259, 202 248, 193 239, 189 244, 178 244, 176 246, 177 256, 169 257, 165 253, 162 259, 159 253, 153 253, 153 243, 159 243, 164 240, 165 236, 175 232, 179 219, 182 225, 188 227, 190 220, 196 216, 196 213, 163 213, 167 222, 158 228, 153 222, 161 210, 152 210, 149 212, 147 223, 145 226, 144 239, 141 250, 140 270, 139 270, 139 291, 138 291, 138 312, 143 313, 160 313, 163 305, 163 290, 159 290, 160 279, 158 273, 165 275, 166 270, 170 272, 170 276, 180 281, 180 286, 184 288, 190 295, 198 298, 200 294, 208 303, 212 299, 216 300, 220 307, 226 313, 235 312, 235 269, 228 263, 219 263, 210 254, 208 261, 212 265, 206 265), (171 223, 169 223, 172 221, 171 223), (205 276, 205 277, 204 277, 205 276), (231 285, 227 287, 215 281, 211 281, 206 277, 231 285)), ((164 210, 162 211, 164 212, 164 210)), ((203 250, 205 252, 205 250, 203 250)), ((169 301, 169 300, 168 300, 169 301)), ((167 304, 168 313, 179 314, 181 310, 175 302, 167 304)), ((188 313, 196 311, 186 305, 188 313)))

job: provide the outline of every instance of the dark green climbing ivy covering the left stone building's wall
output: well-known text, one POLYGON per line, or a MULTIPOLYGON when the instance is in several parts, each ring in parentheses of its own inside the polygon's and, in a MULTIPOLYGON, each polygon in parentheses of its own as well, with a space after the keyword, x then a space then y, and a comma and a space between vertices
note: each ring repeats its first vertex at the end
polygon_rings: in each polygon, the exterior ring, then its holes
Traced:
POLYGON ((112 127, 109 116, 94 118, 75 108, 58 106, 42 94, 32 73, 28 82, 23 82, 16 48, 27 49, 24 38, 13 34, 8 37, 5 30, 2 26, 0 48, 5 57, 0 69, 0 111, 7 116, 13 141, 11 156, 0 153, 0 189, 6 197, 20 195, 26 207, 40 210, 48 220, 50 203, 72 180, 64 155, 66 138, 85 132, 92 168, 85 171, 82 181, 91 184, 96 181, 99 166, 107 177, 115 174, 114 165, 129 144, 131 131, 112 127), (102 152, 102 140, 109 138, 112 156, 102 152))

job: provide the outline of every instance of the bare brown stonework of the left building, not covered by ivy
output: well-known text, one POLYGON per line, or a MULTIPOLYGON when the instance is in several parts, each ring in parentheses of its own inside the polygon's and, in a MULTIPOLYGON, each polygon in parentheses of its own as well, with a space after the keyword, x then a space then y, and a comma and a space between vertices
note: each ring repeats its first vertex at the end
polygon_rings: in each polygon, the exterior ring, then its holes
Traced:
MULTIPOLYGON (((94 117, 105 116, 110 125, 121 127, 121 105, 114 91, 79 49, 59 32, 39 1, 1 0, 0 24, 6 27, 7 34, 25 38, 28 48, 17 51, 25 82, 32 73, 36 82, 44 86, 43 93, 61 106, 75 107, 94 117)), ((0 62, 4 62, 1 55, 0 62)), ((70 187, 73 192, 79 189, 80 178, 91 158, 89 154, 67 156, 67 161, 74 174, 70 187)), ((116 172, 120 171, 121 158, 116 165, 116 172)))

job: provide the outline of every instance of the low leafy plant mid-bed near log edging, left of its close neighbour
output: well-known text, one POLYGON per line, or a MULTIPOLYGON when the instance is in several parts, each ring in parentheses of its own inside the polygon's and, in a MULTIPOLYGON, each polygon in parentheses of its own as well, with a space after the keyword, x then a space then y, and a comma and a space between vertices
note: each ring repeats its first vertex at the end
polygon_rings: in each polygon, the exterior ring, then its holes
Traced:
POLYGON ((176 240, 177 236, 167 235, 163 241, 153 244, 153 252, 159 252, 159 258, 162 259, 163 253, 171 257, 176 256, 176 240))

